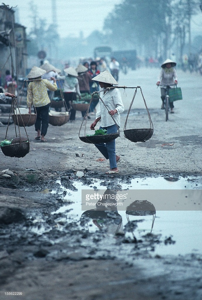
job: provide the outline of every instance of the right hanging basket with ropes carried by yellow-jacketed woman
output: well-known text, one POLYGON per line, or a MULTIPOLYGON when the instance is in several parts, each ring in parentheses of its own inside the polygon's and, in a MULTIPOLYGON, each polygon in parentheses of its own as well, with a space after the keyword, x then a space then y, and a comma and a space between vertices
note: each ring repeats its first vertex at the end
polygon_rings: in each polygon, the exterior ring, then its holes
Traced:
MULTIPOLYGON (((56 79, 56 80, 58 80, 58 79, 56 79)), ((59 102, 62 102, 62 105, 64 107, 65 112, 64 113, 58 113, 58 116, 57 115, 52 116, 52 115, 49 114, 49 124, 51 124, 53 126, 62 126, 64 124, 66 124, 69 121, 69 118, 70 118, 70 116, 67 115, 67 112, 69 112, 69 110, 68 110, 67 104, 64 100, 64 95, 63 95, 63 92, 62 92, 62 89, 61 89, 60 81, 58 80, 58 82, 59 82, 60 95, 61 95, 61 98, 62 98, 62 100, 59 101, 59 102)), ((56 101, 51 101, 50 109, 52 107, 53 102, 56 102, 56 101)))

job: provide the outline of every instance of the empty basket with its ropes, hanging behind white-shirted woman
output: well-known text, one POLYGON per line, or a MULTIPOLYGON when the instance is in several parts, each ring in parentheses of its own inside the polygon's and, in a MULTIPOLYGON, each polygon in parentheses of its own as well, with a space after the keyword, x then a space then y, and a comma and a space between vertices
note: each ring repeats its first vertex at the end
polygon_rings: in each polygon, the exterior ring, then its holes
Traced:
POLYGON ((146 142, 147 140, 149 140, 152 137, 153 131, 154 131, 153 130, 153 123, 151 121, 150 113, 149 113, 149 110, 147 108, 147 104, 146 104, 146 101, 144 99, 142 89, 141 89, 140 86, 137 86, 136 89, 135 89, 135 93, 133 95, 129 110, 128 110, 127 117, 126 117, 126 122, 125 122, 124 130, 123 130, 124 136, 126 137, 126 139, 130 140, 131 142, 146 142), (146 107, 147 114, 148 114, 148 117, 149 117, 150 128, 126 129, 128 116, 129 116, 133 101, 135 99, 135 95, 137 93, 137 88, 140 88, 141 95, 142 95, 142 98, 144 100, 144 105, 146 107))

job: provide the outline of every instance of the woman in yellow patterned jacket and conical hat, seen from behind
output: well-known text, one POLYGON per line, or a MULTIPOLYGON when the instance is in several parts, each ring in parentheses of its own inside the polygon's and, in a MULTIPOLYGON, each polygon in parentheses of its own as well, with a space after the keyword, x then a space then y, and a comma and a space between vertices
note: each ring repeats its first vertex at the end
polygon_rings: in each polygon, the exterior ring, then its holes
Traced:
POLYGON ((31 114, 31 105, 33 104, 34 106, 34 111, 37 114, 35 122, 37 136, 35 140, 40 140, 41 142, 46 142, 45 135, 49 126, 50 99, 47 88, 50 91, 56 91, 58 89, 55 77, 51 77, 54 81, 54 83, 51 83, 48 79, 41 78, 44 73, 46 73, 45 70, 33 67, 27 75, 29 80, 33 80, 28 85, 27 106, 29 107, 29 114, 31 114))

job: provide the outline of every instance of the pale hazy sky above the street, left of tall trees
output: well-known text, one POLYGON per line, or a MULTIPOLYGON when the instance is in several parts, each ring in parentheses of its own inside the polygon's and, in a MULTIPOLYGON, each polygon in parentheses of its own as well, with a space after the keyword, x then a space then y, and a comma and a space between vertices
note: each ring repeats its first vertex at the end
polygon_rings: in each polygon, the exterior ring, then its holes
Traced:
MULTIPOLYGON (((54 1, 52 0, 6 2, 10 7, 17 5, 16 22, 27 27, 27 33, 33 27, 30 2, 37 7, 37 15, 40 19, 47 19, 48 25, 53 23, 52 2, 54 1)), ((113 10, 115 4, 121 2, 122 0, 55 0, 58 33, 61 37, 79 36, 83 31, 84 37, 87 37, 94 30, 102 30, 105 17, 113 10)))

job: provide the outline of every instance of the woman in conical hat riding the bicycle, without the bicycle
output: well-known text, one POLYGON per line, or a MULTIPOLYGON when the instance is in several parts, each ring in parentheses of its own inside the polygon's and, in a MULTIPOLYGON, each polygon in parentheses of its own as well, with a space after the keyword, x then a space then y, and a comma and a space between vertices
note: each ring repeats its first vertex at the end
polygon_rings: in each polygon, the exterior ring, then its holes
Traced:
MULTIPOLYGON (((161 109, 165 109, 165 90, 166 85, 177 84, 177 72, 175 70, 176 62, 172 61, 171 59, 166 59, 161 67, 162 70, 160 72, 159 80, 157 81, 156 85, 161 85, 161 99, 162 99, 162 106, 161 109)), ((171 113, 174 113, 174 105, 173 102, 170 102, 171 113)))

